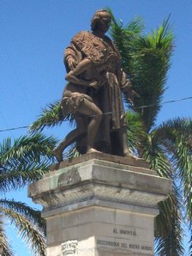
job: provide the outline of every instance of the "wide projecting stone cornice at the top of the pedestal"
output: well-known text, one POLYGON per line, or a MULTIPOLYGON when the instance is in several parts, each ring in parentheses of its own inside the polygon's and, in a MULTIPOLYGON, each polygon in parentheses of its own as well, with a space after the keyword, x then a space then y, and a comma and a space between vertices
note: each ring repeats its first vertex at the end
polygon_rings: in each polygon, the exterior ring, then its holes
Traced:
POLYGON ((156 205, 170 191, 170 181, 145 168, 92 159, 45 175, 29 186, 29 197, 45 206, 100 199, 124 204, 156 205))

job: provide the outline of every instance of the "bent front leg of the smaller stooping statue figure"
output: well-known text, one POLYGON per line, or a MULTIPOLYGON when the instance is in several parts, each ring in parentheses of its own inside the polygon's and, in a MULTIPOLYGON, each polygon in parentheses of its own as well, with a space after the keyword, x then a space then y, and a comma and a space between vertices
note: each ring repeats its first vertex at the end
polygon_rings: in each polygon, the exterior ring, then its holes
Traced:
POLYGON ((87 152, 97 151, 96 149, 93 149, 93 144, 103 117, 102 112, 99 107, 93 102, 87 101, 87 99, 84 99, 79 112, 91 118, 87 127, 87 152))

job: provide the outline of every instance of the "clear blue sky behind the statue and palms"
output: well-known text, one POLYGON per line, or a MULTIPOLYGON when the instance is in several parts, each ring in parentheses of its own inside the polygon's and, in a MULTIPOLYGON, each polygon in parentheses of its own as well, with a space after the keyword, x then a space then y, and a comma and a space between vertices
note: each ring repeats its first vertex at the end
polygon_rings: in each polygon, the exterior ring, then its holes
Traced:
MULTIPOLYGON (((143 17, 146 33, 171 14, 174 52, 163 101, 192 96, 191 0, 0 0, 0 130, 30 125, 42 107, 61 98, 65 84, 63 49, 78 31, 89 29, 95 10, 105 7, 124 24, 135 16, 143 17)), ((191 103, 165 104, 157 124, 191 117, 191 103)), ((46 131, 60 139, 68 132, 68 124, 46 131)), ((26 133, 26 129, 3 131, 0 141, 26 133)), ((13 196, 30 203, 26 190, 13 196)), ((15 255, 31 255, 14 236, 12 240, 15 255)))

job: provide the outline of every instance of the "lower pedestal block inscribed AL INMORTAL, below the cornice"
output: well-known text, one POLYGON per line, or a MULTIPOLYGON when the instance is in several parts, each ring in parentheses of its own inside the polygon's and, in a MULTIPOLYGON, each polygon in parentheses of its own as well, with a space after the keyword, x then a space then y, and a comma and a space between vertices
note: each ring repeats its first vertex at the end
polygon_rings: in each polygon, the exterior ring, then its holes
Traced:
MULTIPOLYGON (((92 200, 89 204, 102 202, 92 200)), ((122 205, 116 206, 118 209, 107 205, 87 206, 68 213, 61 210, 57 215, 54 212, 44 214, 47 220, 47 255, 70 255, 67 254, 71 250, 70 242, 73 246, 75 244, 75 253, 81 256, 153 255, 153 217, 158 210, 133 209, 131 205, 127 205, 126 210, 119 210, 122 205), (68 248, 62 254, 62 247, 66 245, 68 248)))

